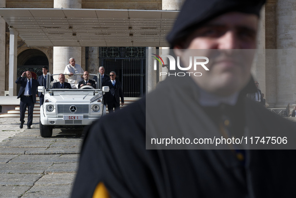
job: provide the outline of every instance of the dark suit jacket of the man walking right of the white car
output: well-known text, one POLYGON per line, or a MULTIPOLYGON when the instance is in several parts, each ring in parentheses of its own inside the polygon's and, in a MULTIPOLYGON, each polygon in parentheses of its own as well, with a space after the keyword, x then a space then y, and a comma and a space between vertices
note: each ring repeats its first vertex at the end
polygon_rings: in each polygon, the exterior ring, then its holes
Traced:
POLYGON ((107 94, 106 95, 107 103, 109 101, 110 102, 113 101, 114 97, 115 97, 117 103, 120 103, 120 99, 121 99, 121 102, 124 103, 124 97, 123 97, 121 83, 118 80, 115 81, 114 86, 112 85, 111 80, 107 81, 105 86, 109 86, 109 89, 110 89, 110 91, 106 93, 107 94))

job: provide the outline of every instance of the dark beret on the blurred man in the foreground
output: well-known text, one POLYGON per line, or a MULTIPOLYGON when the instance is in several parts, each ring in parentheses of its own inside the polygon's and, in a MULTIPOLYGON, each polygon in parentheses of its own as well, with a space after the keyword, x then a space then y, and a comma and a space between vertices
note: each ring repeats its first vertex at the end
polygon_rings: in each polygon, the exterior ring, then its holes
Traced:
POLYGON ((203 23, 229 12, 255 14, 259 17, 265 0, 186 0, 167 41, 176 42, 203 23))

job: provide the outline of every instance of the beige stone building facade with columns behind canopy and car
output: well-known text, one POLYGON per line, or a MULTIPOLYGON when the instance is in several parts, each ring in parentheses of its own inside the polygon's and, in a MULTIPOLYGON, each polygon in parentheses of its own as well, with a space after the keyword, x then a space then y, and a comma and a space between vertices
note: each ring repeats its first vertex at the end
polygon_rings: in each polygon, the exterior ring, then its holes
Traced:
MULTIPOLYGON (((47 8, 47 9, 114 9, 114 10, 178 10, 182 0, 130 0, 130 1, 96 1, 96 0, 1 0, 0 8, 47 8)), ((255 80, 259 82, 259 88, 265 94, 269 107, 285 107, 288 103, 296 104, 296 15, 294 14, 296 2, 292 0, 267 0, 265 8, 261 12, 260 32, 258 35, 258 55, 252 69, 255 80)), ((114 12, 116 16, 116 11, 114 12)), ((1 13, 0 13, 1 16, 1 13)), ((79 16, 79 14, 78 14, 79 16)), ((26 41, 18 38, 16 56, 12 69, 10 60, 10 45, 12 45, 13 30, 0 19, 0 96, 7 94, 16 95, 17 86, 12 86, 18 73, 30 69, 37 75, 43 65, 49 66, 52 73, 64 70, 70 57, 76 59, 77 64, 90 73, 98 72, 101 65, 107 67, 107 71, 115 67, 120 73, 123 84, 131 82, 139 84, 137 90, 125 87, 130 97, 141 97, 156 86, 161 80, 155 72, 149 71, 145 65, 151 64, 146 53, 156 50, 156 46, 135 47, 53 47, 43 46, 28 47, 26 41), (132 60, 132 61, 131 61, 132 60), (135 65, 141 65, 141 71, 135 69, 135 65), (109 65, 110 67, 109 67, 109 65), (112 67, 111 67, 112 65, 112 67), (10 68, 11 67, 11 68, 10 68), (125 70, 133 71, 128 72, 125 70), (13 70, 13 71, 12 71, 13 70), (12 75, 12 73, 15 75, 12 75), (125 81, 128 76, 138 75, 136 81, 125 81), (10 82, 11 81, 11 82, 10 82)), ((163 46, 158 46, 163 47, 163 46)), ((12 64, 11 64, 12 65, 12 64)), ((41 69, 42 70, 42 69, 41 69)))

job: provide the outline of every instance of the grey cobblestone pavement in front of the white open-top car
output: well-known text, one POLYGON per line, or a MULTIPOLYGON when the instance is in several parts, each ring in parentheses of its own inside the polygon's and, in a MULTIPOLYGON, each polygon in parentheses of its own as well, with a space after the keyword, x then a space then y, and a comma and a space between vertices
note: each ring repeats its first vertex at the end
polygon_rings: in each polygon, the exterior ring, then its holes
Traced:
POLYGON ((0 118, 0 197, 69 197, 78 166, 82 130, 54 129, 43 138, 18 118, 0 118))

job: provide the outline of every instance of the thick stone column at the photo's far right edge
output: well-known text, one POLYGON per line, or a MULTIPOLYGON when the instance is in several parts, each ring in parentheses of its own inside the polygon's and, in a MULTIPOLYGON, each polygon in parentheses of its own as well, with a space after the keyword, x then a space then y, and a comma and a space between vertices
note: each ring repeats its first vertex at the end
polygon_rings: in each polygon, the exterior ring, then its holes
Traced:
POLYGON ((296 2, 292 0, 277 1, 277 60, 276 71, 276 103, 274 107, 286 107, 288 103, 296 103, 296 2))

